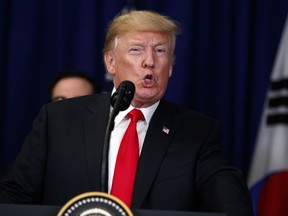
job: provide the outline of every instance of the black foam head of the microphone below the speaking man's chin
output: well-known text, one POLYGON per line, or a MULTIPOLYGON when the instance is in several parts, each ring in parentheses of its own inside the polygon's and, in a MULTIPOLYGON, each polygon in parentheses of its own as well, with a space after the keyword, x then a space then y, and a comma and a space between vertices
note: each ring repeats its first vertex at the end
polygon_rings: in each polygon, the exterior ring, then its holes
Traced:
POLYGON ((129 81, 125 80, 120 83, 116 92, 111 97, 111 105, 114 107, 116 105, 116 101, 120 100, 119 102, 119 111, 126 110, 134 97, 135 94, 135 85, 129 81))

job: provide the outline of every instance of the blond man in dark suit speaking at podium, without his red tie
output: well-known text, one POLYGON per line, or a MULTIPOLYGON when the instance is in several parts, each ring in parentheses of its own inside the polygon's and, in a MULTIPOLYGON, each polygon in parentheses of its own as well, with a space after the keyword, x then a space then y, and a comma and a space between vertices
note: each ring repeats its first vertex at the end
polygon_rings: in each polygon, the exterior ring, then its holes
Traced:
MULTIPOLYGON (((221 149, 218 123, 162 99, 178 32, 173 20, 149 11, 120 15, 109 26, 103 57, 113 92, 124 80, 132 81, 136 91, 130 107, 115 118, 107 192, 129 124, 126 116, 136 108, 144 120, 137 123, 140 158, 131 208, 253 215, 246 182, 221 149)), ((11 172, 0 182, 0 201, 63 205, 78 194, 101 190, 113 92, 43 106, 11 172)))

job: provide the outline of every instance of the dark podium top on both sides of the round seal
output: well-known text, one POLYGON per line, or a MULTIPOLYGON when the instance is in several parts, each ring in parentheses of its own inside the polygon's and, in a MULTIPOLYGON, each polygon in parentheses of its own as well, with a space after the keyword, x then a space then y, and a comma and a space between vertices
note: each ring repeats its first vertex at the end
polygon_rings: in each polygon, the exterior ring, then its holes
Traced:
MULTIPOLYGON (((0 215, 3 216, 55 216, 61 209, 61 206, 47 205, 18 205, 18 204, 0 204, 0 215)), ((203 213, 203 212, 184 212, 184 211, 162 211, 132 209, 134 216, 227 216, 222 213, 203 213)))

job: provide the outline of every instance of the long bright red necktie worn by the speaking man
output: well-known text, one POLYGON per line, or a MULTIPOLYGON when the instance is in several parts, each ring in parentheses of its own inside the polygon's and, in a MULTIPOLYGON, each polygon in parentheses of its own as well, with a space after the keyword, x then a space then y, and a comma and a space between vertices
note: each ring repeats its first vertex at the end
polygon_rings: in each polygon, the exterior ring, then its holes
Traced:
POLYGON ((139 159, 139 140, 136 125, 137 121, 144 119, 144 116, 140 110, 133 109, 128 113, 128 117, 131 118, 131 121, 119 147, 111 194, 121 199, 128 207, 131 207, 139 159))

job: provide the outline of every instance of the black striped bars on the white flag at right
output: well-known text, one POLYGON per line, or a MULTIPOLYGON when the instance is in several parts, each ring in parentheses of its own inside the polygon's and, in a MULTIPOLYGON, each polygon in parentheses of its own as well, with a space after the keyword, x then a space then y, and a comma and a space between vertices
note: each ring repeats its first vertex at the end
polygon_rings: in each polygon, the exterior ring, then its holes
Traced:
POLYGON ((268 109, 268 125, 288 124, 288 78, 272 81, 268 109))

